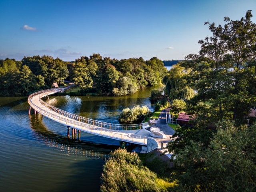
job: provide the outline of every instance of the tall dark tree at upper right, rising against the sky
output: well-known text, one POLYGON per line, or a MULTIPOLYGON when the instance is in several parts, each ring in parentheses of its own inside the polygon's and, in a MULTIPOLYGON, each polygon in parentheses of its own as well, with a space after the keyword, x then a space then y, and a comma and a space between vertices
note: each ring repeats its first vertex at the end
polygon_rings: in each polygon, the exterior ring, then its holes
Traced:
POLYGON ((190 70, 189 82, 198 92, 191 104, 211 102, 213 120, 232 116, 241 122, 256 104, 256 73, 251 65, 256 58, 256 25, 251 17, 251 11, 236 21, 226 17, 224 27, 206 22, 213 36, 199 41, 199 56, 190 54, 181 64, 190 70))

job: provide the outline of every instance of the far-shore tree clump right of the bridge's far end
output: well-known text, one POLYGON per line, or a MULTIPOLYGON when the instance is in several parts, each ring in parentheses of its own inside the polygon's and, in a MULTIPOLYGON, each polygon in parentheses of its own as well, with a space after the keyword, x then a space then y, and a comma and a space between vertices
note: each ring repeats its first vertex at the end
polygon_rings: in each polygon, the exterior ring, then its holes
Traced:
POLYGON ((82 92, 121 96, 160 84, 166 72, 163 62, 156 57, 148 61, 143 58, 116 60, 93 54, 90 58, 77 59, 71 73, 82 92))

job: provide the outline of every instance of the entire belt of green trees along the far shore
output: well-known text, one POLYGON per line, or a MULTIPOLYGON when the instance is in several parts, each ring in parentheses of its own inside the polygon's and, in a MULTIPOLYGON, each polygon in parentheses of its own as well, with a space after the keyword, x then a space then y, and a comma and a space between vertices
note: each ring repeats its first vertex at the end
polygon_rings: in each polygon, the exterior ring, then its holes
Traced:
POLYGON ((121 96, 132 94, 146 86, 161 84, 167 69, 153 57, 111 59, 92 54, 74 62, 64 62, 52 56, 24 57, 21 61, 0 60, 0 96, 27 96, 50 88, 54 82, 72 81, 79 87, 76 94, 121 96))

